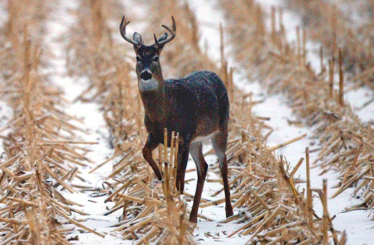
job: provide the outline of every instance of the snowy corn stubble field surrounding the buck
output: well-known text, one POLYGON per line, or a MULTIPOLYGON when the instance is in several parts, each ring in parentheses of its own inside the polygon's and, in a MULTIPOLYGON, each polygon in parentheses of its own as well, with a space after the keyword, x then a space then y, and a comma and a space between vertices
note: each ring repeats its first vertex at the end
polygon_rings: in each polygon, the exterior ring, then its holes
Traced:
MULTIPOLYGON (((371 244, 371 0, 0 3, 0 244, 371 244), (197 226, 190 159, 142 157, 135 53, 177 23, 163 77, 210 70, 230 100, 234 216, 210 142, 197 226)), ((175 146, 177 147, 177 146, 175 146)))

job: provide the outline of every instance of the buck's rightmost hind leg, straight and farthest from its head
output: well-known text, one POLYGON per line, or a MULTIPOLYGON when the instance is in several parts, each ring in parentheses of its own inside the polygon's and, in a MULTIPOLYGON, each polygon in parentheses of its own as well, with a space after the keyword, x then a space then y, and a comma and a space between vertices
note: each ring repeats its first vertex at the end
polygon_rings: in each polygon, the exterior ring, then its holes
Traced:
POLYGON ((226 218, 232 216, 233 208, 231 206, 230 200, 230 188, 229 180, 227 179, 227 157, 226 157, 226 145, 227 145, 227 133, 217 132, 212 137, 212 145, 218 157, 218 163, 220 164, 220 170, 223 180, 223 187, 225 190, 225 200, 226 200, 226 218))

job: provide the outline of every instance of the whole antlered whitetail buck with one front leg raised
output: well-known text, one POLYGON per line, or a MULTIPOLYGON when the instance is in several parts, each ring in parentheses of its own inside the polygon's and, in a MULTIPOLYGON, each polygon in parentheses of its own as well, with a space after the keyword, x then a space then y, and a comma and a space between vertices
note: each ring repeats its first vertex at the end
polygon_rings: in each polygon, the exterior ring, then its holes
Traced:
MULTIPOLYGON (((229 98, 227 90, 217 74, 196 71, 182 79, 164 80, 159 56, 166 43, 174 39, 176 24, 172 17, 173 30, 162 25, 171 33, 154 35, 154 44, 144 45, 141 35, 134 33, 132 39, 126 37, 126 25, 130 21, 123 16, 120 24, 122 37, 134 45, 137 58, 137 75, 140 96, 144 105, 144 124, 148 138, 143 148, 144 159, 151 165, 159 180, 162 173, 152 158, 152 151, 164 142, 164 128, 180 133, 176 185, 183 194, 184 174, 188 154, 196 164, 197 186, 190 214, 190 221, 197 222, 197 210, 205 182, 208 164, 202 153, 202 139, 209 137, 217 154, 226 199, 226 217, 233 215, 230 202, 229 182, 227 180, 227 122, 229 120, 229 98)), ((171 133, 168 132, 168 144, 171 133)), ((168 145, 169 146, 169 145, 168 145)))

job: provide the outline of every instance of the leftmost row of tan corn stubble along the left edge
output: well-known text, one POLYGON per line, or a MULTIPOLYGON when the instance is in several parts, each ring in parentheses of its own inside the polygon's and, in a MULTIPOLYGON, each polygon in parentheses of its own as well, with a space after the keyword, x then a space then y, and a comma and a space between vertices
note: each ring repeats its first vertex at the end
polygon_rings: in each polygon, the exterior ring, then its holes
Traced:
POLYGON ((85 181, 78 166, 91 164, 84 156, 86 149, 78 145, 95 142, 77 141, 81 129, 71 124, 76 119, 61 111, 67 106, 61 91, 42 73, 50 58, 46 22, 56 6, 54 1, 8 1, 8 21, 1 27, 6 44, 1 54, 10 54, 2 59, 2 99, 12 108, 13 118, 1 128, 8 133, 0 164, 0 244, 68 244, 71 230, 62 224, 103 236, 74 220, 73 212, 87 214, 57 190, 77 193, 71 181, 85 181))

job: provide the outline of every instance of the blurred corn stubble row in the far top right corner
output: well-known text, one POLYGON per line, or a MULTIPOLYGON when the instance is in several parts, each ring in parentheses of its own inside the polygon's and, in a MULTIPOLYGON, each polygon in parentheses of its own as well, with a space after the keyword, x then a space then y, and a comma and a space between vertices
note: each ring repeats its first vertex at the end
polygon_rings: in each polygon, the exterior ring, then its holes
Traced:
POLYGON ((288 0, 287 3, 291 10, 301 13, 308 36, 322 44, 334 65, 338 65, 340 47, 344 57, 344 71, 350 74, 349 79, 358 85, 374 88, 373 1, 339 0, 329 3, 322 0, 288 0), (362 19, 357 21, 335 4, 349 4, 359 11, 362 19))

